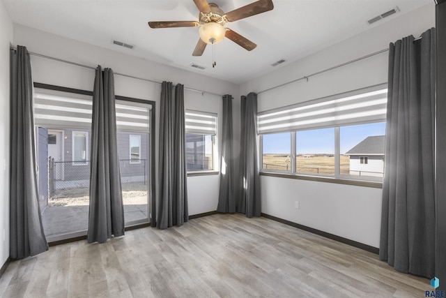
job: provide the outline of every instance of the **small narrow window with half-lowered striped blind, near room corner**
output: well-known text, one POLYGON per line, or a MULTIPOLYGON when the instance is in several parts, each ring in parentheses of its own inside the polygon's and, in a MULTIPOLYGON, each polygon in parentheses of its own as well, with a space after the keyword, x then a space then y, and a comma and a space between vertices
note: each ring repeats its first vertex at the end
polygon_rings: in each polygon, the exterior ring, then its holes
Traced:
POLYGON ((187 171, 214 170, 217 114, 186 110, 187 171))

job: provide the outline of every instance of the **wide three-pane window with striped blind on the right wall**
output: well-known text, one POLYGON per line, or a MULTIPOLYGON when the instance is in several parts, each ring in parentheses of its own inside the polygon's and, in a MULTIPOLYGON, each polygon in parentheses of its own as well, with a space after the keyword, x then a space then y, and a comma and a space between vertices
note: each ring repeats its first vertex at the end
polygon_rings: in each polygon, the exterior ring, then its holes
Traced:
POLYGON ((383 177, 385 84, 258 115, 262 171, 383 177))

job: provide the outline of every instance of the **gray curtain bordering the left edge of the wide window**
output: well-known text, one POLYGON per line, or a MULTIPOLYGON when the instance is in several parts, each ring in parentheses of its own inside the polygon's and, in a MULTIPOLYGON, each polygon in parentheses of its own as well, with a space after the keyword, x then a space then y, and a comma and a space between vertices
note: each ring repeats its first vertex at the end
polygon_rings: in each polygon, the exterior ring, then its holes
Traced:
POLYGON ((259 156, 257 151, 257 94, 241 97, 240 175, 237 211, 261 216, 259 156))

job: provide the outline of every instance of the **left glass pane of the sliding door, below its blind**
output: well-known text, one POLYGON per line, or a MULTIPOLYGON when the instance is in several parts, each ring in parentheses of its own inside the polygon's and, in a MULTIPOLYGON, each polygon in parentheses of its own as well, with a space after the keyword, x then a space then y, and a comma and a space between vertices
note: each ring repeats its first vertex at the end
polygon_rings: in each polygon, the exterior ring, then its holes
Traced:
POLYGON ((49 132, 48 138, 38 134, 39 202, 45 207, 42 223, 48 241, 79 236, 88 228, 89 131, 77 129, 39 128, 49 132))

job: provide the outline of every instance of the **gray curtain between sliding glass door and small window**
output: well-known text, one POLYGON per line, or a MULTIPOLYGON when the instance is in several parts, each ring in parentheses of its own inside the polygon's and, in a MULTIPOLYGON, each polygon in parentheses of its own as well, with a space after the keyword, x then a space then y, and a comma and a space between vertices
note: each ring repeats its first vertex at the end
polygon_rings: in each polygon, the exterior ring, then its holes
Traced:
POLYGON ((156 226, 160 229, 183 225, 189 220, 184 87, 162 82, 160 108, 159 197, 156 226))

